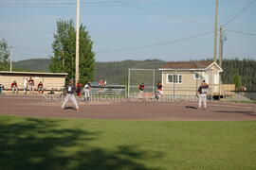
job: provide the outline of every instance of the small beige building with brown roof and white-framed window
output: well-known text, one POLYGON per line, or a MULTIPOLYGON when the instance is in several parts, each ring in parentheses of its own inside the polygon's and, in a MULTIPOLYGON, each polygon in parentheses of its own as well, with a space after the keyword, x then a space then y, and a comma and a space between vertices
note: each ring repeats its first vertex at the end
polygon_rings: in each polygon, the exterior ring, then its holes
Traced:
POLYGON ((222 68, 214 61, 168 62, 159 68, 165 95, 195 95, 202 80, 209 85, 210 95, 219 95, 222 68))

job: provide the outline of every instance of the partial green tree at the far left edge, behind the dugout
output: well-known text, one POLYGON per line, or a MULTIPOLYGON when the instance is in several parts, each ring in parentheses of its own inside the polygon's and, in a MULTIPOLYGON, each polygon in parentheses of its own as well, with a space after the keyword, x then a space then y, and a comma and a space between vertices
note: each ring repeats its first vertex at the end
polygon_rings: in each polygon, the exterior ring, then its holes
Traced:
POLYGON ((0 70, 7 70, 9 68, 9 46, 5 39, 0 41, 0 70))

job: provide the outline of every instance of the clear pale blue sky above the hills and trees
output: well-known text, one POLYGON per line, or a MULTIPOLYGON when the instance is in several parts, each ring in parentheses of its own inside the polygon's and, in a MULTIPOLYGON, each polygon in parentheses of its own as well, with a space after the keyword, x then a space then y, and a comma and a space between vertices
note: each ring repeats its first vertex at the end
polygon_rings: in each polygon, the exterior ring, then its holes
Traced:
MULTIPOLYGON (((256 59, 256 0, 219 0, 224 58, 256 59), (228 25, 227 25, 228 24, 228 25)), ((0 0, 0 39, 11 59, 52 56, 57 20, 76 21, 76 0, 0 0)), ((81 0, 98 61, 213 59, 215 0, 81 0)))

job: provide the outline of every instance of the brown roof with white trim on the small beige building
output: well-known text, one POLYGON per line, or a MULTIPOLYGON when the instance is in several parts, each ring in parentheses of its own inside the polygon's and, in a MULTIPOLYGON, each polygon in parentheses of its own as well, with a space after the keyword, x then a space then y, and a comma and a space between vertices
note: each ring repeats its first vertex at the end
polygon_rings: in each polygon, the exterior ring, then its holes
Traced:
MULTIPOLYGON (((206 70, 212 64, 216 64, 219 67, 219 65, 212 60, 175 61, 175 62, 167 62, 159 70, 206 70)), ((222 69, 220 68, 220 70, 222 69)))

